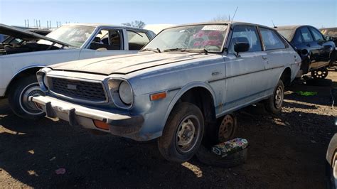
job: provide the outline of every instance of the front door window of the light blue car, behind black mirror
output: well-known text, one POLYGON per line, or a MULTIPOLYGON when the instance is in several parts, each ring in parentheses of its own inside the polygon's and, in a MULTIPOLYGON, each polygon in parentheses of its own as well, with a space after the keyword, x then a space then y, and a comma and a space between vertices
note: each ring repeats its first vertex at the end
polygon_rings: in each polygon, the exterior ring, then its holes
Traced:
POLYGON ((257 30, 254 26, 236 26, 232 33, 232 39, 230 40, 229 53, 235 53, 235 43, 249 43, 250 49, 248 52, 262 51, 260 38, 257 35, 257 30))

